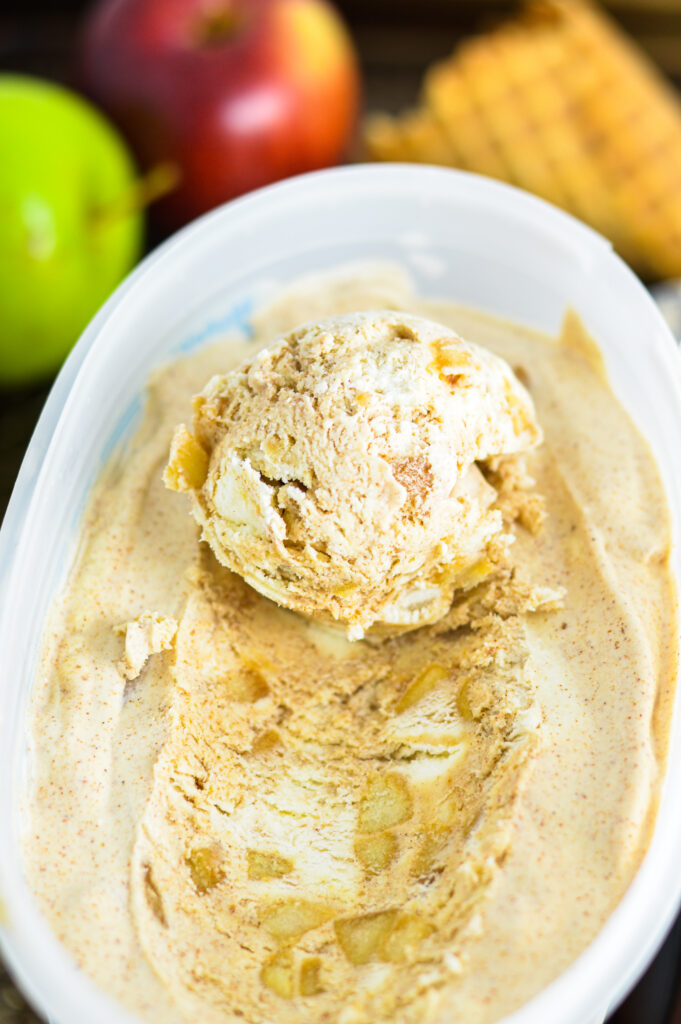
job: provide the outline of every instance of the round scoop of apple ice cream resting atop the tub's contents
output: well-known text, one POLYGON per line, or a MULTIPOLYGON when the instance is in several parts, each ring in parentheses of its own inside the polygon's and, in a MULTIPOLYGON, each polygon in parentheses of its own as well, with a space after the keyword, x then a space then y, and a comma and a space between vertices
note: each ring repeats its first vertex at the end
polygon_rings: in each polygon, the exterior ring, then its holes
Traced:
POLYGON ((214 377, 165 472, 216 557, 358 637, 440 617, 504 550, 478 464, 541 440, 508 365, 394 311, 305 324, 214 377))

